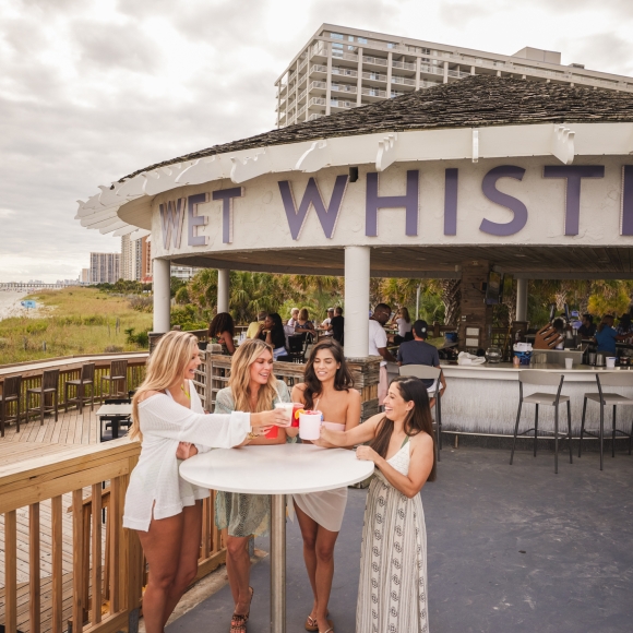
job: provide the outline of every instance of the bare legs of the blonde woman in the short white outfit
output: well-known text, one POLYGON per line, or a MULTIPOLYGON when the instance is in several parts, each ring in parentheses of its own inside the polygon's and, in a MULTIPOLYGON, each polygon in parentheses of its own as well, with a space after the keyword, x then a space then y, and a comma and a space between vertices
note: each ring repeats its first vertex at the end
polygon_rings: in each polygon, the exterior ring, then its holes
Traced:
POLYGON ((168 518, 153 518, 148 532, 138 532, 150 574, 143 594, 147 633, 163 633, 184 589, 195 577, 202 536, 202 502, 168 518))

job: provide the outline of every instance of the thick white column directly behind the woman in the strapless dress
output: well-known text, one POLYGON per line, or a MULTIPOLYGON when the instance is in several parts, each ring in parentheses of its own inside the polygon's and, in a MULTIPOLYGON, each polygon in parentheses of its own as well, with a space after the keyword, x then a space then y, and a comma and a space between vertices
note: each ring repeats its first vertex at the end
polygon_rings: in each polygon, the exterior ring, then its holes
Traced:
POLYGON ((345 249, 345 356, 369 354, 370 247, 345 249))

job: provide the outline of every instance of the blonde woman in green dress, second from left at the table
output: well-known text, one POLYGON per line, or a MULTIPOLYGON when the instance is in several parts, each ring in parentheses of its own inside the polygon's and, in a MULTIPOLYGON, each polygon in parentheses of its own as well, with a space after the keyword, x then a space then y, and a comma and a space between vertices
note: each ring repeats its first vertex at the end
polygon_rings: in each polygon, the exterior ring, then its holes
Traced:
MULTIPOLYGON (((259 338, 244 341, 236 351, 228 387, 217 392, 216 414, 232 411, 268 411, 278 402, 291 402, 286 383, 273 374, 273 348, 259 338)), ((283 444, 298 429, 282 428, 276 439, 260 437, 253 444, 283 444)), ((295 438, 291 438, 294 441, 295 438)), ((226 572, 235 601, 230 632, 244 633, 250 613, 253 590, 249 587, 251 560, 249 537, 265 536, 270 528, 270 497, 218 492, 215 498, 215 524, 228 528, 226 541, 226 572)))

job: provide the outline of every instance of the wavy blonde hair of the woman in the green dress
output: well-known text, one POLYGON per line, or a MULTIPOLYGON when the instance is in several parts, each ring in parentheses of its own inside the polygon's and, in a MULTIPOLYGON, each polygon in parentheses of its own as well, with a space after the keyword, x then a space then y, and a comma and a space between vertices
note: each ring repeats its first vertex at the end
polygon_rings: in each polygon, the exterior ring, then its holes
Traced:
POLYGON ((249 338, 238 347, 232 357, 228 386, 232 394, 235 408, 238 411, 249 411, 251 414, 270 411, 273 406, 273 401, 278 396, 277 379, 271 371, 268 382, 260 386, 255 408, 251 409, 251 365, 264 351, 270 351, 271 358, 273 357, 273 347, 271 345, 260 338, 249 338))

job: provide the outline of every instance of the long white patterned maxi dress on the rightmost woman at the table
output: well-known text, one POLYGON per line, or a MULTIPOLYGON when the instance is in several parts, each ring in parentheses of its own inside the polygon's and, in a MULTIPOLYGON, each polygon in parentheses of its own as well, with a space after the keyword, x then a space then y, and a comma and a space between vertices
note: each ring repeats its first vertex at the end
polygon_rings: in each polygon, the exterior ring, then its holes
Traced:
MULTIPOLYGON (((408 474, 408 438, 387 462, 408 474)), ((422 499, 409 499, 378 469, 365 507, 356 632, 429 632, 422 499)))

